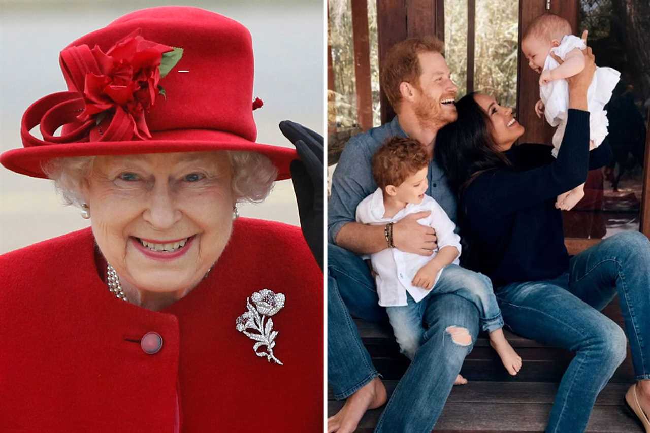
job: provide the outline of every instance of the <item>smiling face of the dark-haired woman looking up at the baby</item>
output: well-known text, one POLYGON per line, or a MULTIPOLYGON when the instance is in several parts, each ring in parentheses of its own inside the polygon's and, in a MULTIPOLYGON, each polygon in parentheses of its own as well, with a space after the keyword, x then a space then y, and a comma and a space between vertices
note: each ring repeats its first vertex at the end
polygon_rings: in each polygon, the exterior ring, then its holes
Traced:
POLYGON ((486 94, 475 94, 474 101, 486 113, 487 129, 497 149, 499 151, 510 149, 517 138, 525 132, 524 127, 512 115, 512 109, 502 107, 492 96, 486 94))

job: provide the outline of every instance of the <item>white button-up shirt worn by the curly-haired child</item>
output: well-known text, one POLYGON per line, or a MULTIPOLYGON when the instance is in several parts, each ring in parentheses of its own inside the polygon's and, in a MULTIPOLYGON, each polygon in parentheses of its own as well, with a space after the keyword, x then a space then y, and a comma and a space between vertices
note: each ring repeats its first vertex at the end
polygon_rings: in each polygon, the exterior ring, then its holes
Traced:
MULTIPOLYGON (((383 192, 378 188, 375 192, 361 200, 357 206, 356 220, 363 224, 385 225, 389 222, 397 222, 406 215, 422 211, 431 211, 426 218, 417 220, 422 226, 434 228, 437 237, 438 250, 443 246, 455 246, 458 249, 458 256, 454 260, 454 265, 458 265, 460 257, 460 236, 454 233, 454 223, 447 217, 443 208, 435 202, 433 198, 425 195, 419 204, 408 203, 404 209, 401 209, 393 218, 384 218, 385 208, 383 207, 383 192)), ((370 255, 372 269, 377 273, 377 294, 379 295, 379 304, 383 307, 405 306, 406 292, 413 297, 415 302, 420 302, 424 296, 430 293, 430 290, 415 287, 411 284, 417 271, 428 261, 437 255, 434 251, 432 256, 420 256, 403 252, 397 248, 386 248, 378 253, 370 255)), ((365 256, 364 258, 367 258, 365 256)), ((440 278, 442 270, 435 276, 435 282, 440 278)), ((434 282, 434 285, 435 285, 434 282)))

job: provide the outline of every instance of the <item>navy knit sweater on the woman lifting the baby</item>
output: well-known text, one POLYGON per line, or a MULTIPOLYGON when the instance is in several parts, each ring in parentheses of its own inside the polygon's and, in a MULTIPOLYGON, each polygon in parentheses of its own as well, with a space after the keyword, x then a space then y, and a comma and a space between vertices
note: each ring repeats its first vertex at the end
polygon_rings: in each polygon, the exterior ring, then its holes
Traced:
POLYGON ((557 159, 551 146, 521 144, 505 154, 512 167, 476 177, 461 195, 467 265, 495 287, 554 278, 569 269, 562 212, 556 198, 608 163, 605 141, 589 151, 589 112, 570 109, 557 159))

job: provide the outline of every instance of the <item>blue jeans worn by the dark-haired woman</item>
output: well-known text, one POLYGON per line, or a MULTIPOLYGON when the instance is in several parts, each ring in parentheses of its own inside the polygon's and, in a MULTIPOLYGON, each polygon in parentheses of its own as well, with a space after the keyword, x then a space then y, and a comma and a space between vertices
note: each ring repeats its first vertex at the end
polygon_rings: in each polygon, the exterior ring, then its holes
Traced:
MULTIPOLYGON (((625 360, 625 333, 599 312, 619 295, 636 380, 650 379, 650 242, 619 233, 573 257, 569 272, 496 291, 513 332, 576 352, 547 432, 582 432, 597 395, 625 360)), ((525 365, 524 365, 524 368, 525 365)))

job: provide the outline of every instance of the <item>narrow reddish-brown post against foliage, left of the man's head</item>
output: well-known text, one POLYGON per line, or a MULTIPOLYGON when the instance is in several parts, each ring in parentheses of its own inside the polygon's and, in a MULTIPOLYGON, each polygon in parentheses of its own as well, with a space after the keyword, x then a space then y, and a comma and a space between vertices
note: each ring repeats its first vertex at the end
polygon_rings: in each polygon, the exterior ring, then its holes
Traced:
POLYGON ((352 41, 354 43, 354 77, 357 90, 357 120, 361 129, 367 131, 372 127, 367 0, 352 0, 352 41))

